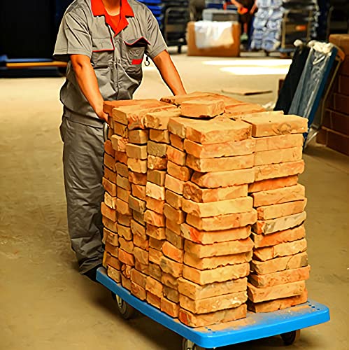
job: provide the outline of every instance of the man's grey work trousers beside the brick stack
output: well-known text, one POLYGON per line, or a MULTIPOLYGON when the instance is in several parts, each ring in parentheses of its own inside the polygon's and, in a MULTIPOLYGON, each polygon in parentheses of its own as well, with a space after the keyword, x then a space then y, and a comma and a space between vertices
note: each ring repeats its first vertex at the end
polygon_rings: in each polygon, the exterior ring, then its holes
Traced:
POLYGON ((64 185, 69 235, 79 271, 83 274, 103 260, 103 124, 101 127, 92 127, 63 117, 60 131, 64 142, 64 185))

